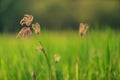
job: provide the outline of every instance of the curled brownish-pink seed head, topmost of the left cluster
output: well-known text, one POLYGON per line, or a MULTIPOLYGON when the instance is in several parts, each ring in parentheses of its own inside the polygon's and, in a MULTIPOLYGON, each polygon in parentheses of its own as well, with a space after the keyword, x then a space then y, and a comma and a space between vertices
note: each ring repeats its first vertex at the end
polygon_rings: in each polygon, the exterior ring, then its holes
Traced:
POLYGON ((33 21, 33 16, 32 15, 29 15, 29 14, 25 14, 23 19, 21 19, 20 21, 20 24, 23 26, 24 24, 26 26, 30 26, 30 24, 32 23, 33 21))

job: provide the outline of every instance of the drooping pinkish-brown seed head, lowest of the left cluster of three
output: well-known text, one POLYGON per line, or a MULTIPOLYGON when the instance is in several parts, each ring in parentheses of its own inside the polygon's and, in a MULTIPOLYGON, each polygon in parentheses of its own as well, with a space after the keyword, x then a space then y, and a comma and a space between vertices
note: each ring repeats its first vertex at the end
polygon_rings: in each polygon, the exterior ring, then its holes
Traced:
POLYGON ((21 37, 21 38, 29 38, 31 36, 32 32, 30 30, 30 27, 23 27, 20 32, 18 33, 17 35, 17 38, 18 37, 21 37))

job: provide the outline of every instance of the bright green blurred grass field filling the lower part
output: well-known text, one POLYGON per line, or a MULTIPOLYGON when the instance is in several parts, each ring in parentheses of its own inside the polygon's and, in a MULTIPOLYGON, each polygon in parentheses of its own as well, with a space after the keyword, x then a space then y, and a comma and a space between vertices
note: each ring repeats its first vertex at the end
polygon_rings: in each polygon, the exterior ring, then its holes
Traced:
POLYGON ((32 35, 29 40, 0 35, 0 80, 49 80, 45 49, 51 64, 51 80, 120 80, 120 33, 112 30, 75 31, 32 35), (54 55, 61 59, 54 61, 54 55))

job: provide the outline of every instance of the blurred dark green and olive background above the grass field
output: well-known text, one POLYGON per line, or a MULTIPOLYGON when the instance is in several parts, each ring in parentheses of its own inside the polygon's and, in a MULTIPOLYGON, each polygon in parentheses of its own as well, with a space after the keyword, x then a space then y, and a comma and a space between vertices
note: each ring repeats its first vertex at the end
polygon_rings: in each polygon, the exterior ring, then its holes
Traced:
POLYGON ((76 30, 80 22, 93 29, 120 29, 119 0, 0 0, 0 32, 18 32, 26 13, 42 29, 76 30))

